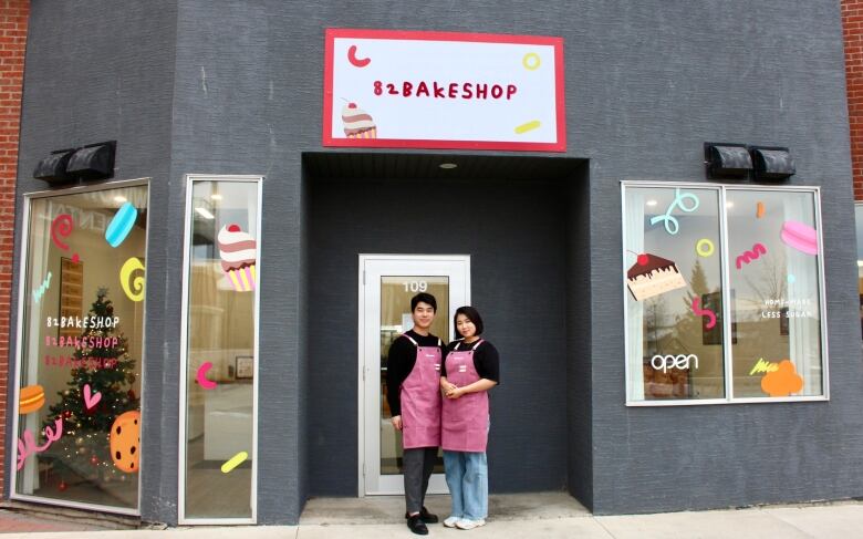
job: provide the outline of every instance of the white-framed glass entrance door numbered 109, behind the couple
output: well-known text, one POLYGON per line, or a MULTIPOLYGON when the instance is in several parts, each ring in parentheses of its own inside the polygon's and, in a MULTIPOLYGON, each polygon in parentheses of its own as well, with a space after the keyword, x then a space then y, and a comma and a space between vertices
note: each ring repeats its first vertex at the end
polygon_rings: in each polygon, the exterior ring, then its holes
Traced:
MULTIPOLYGON (((470 303, 470 257, 363 255, 360 280, 360 495, 404 494, 402 433, 386 401, 389 345, 413 326, 410 298, 419 292, 437 300, 432 333, 453 339, 453 315, 470 303)), ((447 493, 440 455, 428 491, 447 493)))

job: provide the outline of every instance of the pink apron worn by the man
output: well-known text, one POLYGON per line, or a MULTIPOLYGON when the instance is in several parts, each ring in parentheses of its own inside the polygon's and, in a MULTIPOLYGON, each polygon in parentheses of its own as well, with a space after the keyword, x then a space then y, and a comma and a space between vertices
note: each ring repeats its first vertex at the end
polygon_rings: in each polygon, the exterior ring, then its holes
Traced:
MULTIPOLYGON (((402 447, 438 447, 440 445, 440 349, 416 346, 416 363, 402 382, 402 447)), ((438 339, 438 344, 440 340, 438 339)))

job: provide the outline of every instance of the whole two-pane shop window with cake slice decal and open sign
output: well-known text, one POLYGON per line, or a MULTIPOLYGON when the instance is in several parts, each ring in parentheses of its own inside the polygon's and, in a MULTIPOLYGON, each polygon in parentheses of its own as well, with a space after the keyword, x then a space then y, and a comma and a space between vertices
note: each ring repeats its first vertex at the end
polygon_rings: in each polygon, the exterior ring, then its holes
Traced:
POLYGON ((623 189, 627 402, 824 398, 818 191, 623 189))

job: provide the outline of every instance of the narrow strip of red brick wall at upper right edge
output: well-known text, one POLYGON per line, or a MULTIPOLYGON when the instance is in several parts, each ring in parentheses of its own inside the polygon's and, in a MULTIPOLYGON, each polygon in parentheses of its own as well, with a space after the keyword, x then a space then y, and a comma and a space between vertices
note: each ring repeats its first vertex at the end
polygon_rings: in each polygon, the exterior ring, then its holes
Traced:
POLYGON ((842 0, 854 199, 863 200, 863 0, 842 0))

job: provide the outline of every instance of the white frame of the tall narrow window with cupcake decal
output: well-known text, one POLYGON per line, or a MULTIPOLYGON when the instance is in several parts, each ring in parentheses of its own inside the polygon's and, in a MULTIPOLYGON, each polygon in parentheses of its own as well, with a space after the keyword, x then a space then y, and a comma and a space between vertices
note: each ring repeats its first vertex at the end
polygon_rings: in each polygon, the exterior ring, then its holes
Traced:
POLYGON ((233 525, 257 525, 258 524, 258 431, 259 431, 259 381, 260 381, 260 323, 261 323, 261 278, 258 270, 258 284, 254 287, 254 379, 252 380, 252 469, 251 469, 251 491, 249 494, 251 501, 251 517, 226 517, 226 518, 189 518, 186 517, 186 467, 187 467, 187 439, 186 423, 188 421, 186 390, 188 383, 188 362, 189 362, 189 283, 191 277, 191 231, 195 211, 193 208, 193 186, 195 182, 232 182, 257 184, 258 187, 258 261, 261 263, 261 239, 263 225, 263 182, 262 175, 223 175, 223 174, 187 174, 185 175, 184 187, 186 189, 186 205, 183 213, 184 218, 184 239, 183 239, 183 300, 180 305, 180 361, 179 361, 179 439, 178 444, 178 474, 177 474, 177 524, 187 526, 233 526, 233 525))

